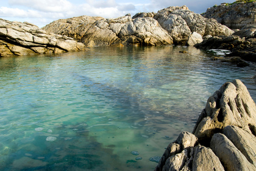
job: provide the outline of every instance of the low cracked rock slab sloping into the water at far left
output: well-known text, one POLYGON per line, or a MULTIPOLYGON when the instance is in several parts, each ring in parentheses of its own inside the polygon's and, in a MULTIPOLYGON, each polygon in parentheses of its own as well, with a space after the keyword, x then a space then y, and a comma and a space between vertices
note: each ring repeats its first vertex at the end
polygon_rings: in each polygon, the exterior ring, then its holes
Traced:
POLYGON ((34 24, 0 19, 0 57, 59 54, 85 50, 82 43, 64 35, 46 33, 34 24))

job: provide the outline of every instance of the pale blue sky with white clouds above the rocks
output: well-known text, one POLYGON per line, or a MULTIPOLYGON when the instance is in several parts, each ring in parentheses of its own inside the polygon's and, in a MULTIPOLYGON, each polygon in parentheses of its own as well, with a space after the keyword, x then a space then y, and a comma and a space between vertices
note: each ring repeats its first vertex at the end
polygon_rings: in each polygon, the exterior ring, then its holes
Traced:
POLYGON ((130 13, 157 12, 171 6, 187 5, 195 13, 206 12, 208 7, 231 3, 235 0, 0 0, 0 18, 29 22, 38 27, 57 19, 74 16, 102 16, 118 18, 130 13))

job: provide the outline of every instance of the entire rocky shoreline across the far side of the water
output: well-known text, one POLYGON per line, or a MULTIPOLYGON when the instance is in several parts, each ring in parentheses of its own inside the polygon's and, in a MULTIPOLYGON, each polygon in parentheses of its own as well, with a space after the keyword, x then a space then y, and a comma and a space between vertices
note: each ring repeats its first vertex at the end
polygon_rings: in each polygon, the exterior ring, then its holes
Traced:
POLYGON ((227 49, 232 51, 231 57, 255 62, 255 6, 255 1, 221 4, 202 15, 183 5, 119 18, 79 16, 53 21, 42 29, 1 19, 0 57, 59 54, 92 46, 180 44, 205 50, 227 49), (233 15, 236 17, 231 18, 233 15))

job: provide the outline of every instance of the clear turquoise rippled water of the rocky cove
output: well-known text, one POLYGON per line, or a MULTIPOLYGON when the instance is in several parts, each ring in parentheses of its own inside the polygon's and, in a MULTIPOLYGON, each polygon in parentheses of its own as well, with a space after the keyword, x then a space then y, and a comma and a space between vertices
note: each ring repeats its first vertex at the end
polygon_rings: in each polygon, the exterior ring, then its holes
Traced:
POLYGON ((193 130, 224 82, 242 80, 256 99, 255 65, 238 68, 212 55, 96 47, 0 58, 0 169, 154 170, 149 158, 193 130))

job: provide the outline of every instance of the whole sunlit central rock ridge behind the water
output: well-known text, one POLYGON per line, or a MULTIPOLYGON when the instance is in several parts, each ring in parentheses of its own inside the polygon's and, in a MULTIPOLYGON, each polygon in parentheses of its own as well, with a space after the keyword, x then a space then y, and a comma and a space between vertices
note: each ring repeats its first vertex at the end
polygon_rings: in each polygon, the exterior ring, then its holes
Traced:
POLYGON ((201 36, 233 33, 215 19, 191 12, 185 5, 116 19, 90 16, 59 19, 43 29, 72 37, 86 46, 185 44, 193 32, 201 36))

